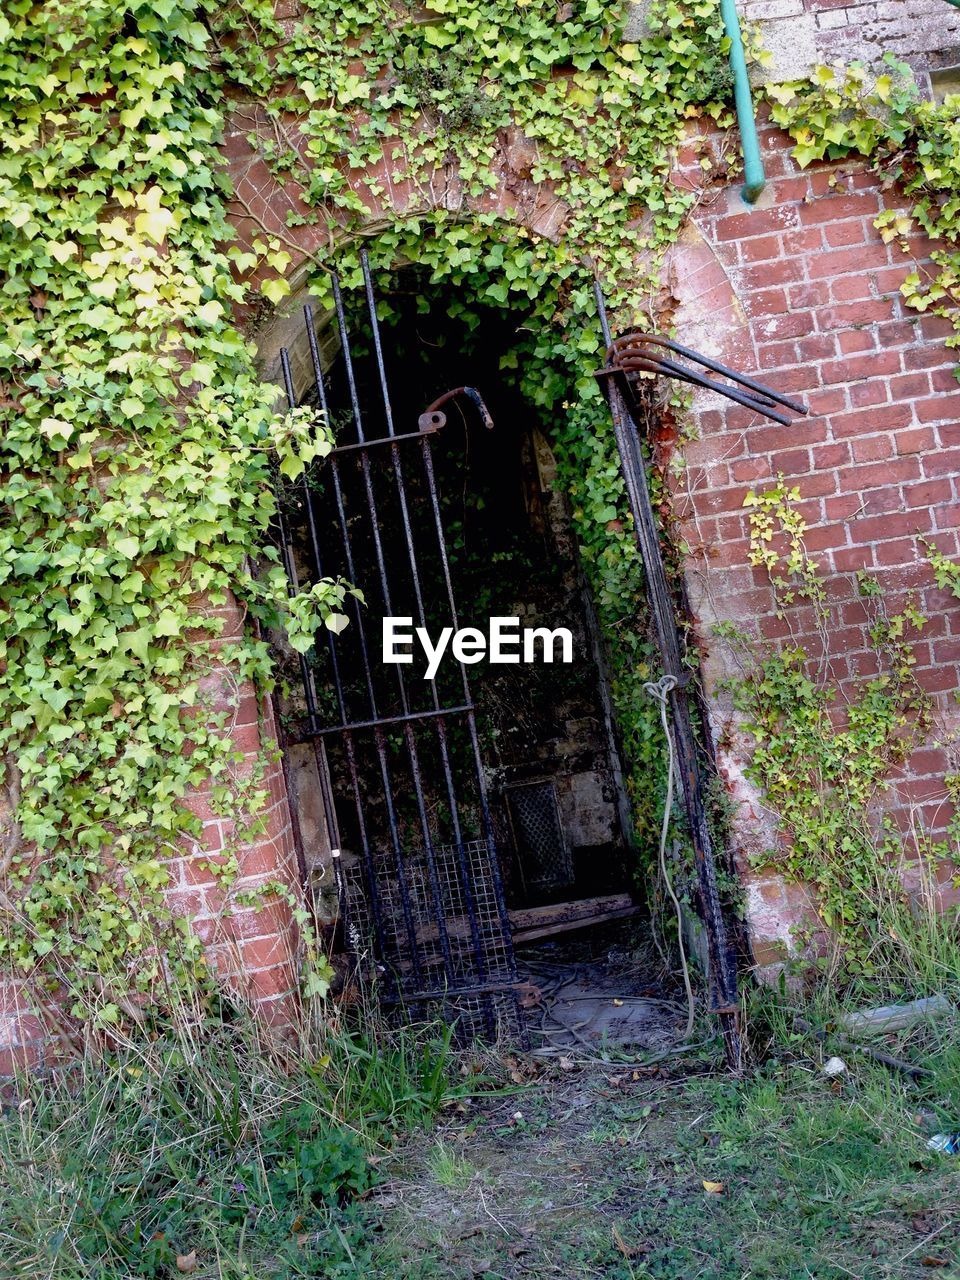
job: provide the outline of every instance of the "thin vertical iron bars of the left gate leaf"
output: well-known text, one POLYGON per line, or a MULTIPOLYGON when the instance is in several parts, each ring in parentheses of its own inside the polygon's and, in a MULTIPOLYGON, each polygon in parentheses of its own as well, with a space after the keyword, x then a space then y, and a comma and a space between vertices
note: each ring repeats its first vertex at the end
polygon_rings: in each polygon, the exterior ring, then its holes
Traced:
MULTIPOLYGON (((376 361, 376 370, 379 375, 380 392, 383 398, 383 410, 387 425, 387 435, 376 436, 372 439, 367 438, 364 426, 364 417, 360 406, 360 396, 357 388, 356 371, 353 365, 353 357, 349 343, 349 334, 347 328, 346 308, 343 303, 343 296, 340 291, 340 282, 338 276, 333 275, 333 292, 334 292, 334 311, 337 317, 337 326, 340 338, 340 351, 343 357, 343 366, 346 372, 347 389, 349 394, 349 402, 352 408, 353 424, 356 428, 356 442, 337 444, 337 447, 328 456, 329 475, 332 477, 332 488, 334 504, 337 511, 337 526, 339 529, 339 536, 343 544, 343 556, 346 562, 346 573, 349 581, 357 582, 357 564, 355 561, 353 543, 351 536, 351 520, 347 517, 347 506, 344 498, 344 488, 340 476, 340 460, 344 454, 357 457, 360 462, 360 468, 362 474, 362 485, 366 498, 366 509, 370 517, 369 529, 372 535, 374 543, 374 558, 378 566, 378 577, 380 584, 380 594, 385 607, 385 616, 392 614, 392 593, 389 585, 389 573, 387 568, 387 559, 384 556, 384 548, 380 538, 380 516, 378 511, 376 495, 372 484, 372 476, 370 470, 370 457, 369 451, 380 444, 390 445, 390 460, 393 479, 396 483, 396 494, 399 502, 401 509, 401 525, 403 530, 403 543, 406 547, 407 561, 410 564, 410 571, 412 575, 413 591, 416 599, 416 612, 421 625, 426 625, 426 613, 424 608, 424 596, 421 589, 420 571, 417 564, 417 556, 413 543, 413 531, 410 518, 410 507, 407 499, 407 490, 403 477, 403 468, 401 465, 401 447, 406 445, 412 448, 412 442, 417 442, 419 452, 421 453, 424 475, 426 479, 426 486, 430 498, 430 515, 433 517, 434 531, 436 534, 439 558, 443 571, 443 581, 447 595, 447 607, 449 608, 451 620, 456 627, 456 607, 453 600, 453 590, 449 573, 449 562, 447 558, 447 548, 444 541, 443 522, 440 518, 439 499, 436 493, 435 475, 433 470, 433 460, 430 454, 429 439, 430 434, 434 434, 439 428, 445 424, 445 416, 439 412, 438 406, 430 406, 430 408, 421 415, 420 430, 415 433, 397 434, 393 424, 393 410, 389 398, 389 389, 387 384, 387 374, 383 356, 383 347, 380 339, 380 328, 376 317, 376 300, 372 289, 372 280, 370 275, 370 265, 367 260, 366 251, 361 252, 361 268, 364 274, 364 287, 367 303, 367 315, 370 323, 370 330, 374 340, 374 353, 376 361)), ((310 344, 311 362, 314 381, 316 387, 317 398, 320 402, 320 408, 324 413, 329 415, 329 402, 326 388, 324 383, 324 374, 320 362, 320 355, 316 342, 316 332, 314 324, 314 315, 311 307, 305 307, 305 321, 307 328, 307 338, 310 344)), ((291 407, 296 403, 294 389, 292 384, 289 361, 287 352, 282 352, 282 364, 284 370, 284 384, 287 390, 287 399, 291 407)), ((477 406, 480 413, 484 417, 485 425, 493 425, 486 411, 486 406, 483 402, 479 392, 475 388, 457 388, 456 390, 447 393, 440 397, 438 403, 445 403, 453 396, 466 394, 477 406)), ((346 458, 344 458, 346 461, 346 458)), ((308 544, 310 552, 314 561, 314 568, 319 576, 323 576, 323 557, 320 552, 319 535, 316 531, 316 520, 314 513, 315 494, 307 483, 307 477, 302 481, 302 495, 307 511, 307 525, 308 525, 308 544)), ((356 518, 356 517, 353 517, 356 518)), ((291 575, 291 581, 296 584, 296 563, 293 543, 289 534, 289 529, 285 522, 280 526, 282 540, 284 545, 284 563, 287 566, 288 573, 291 575)), ((422 852, 426 861, 428 878, 430 886, 430 897, 433 904, 433 915, 436 924, 436 932, 440 942, 442 964, 444 974, 444 987, 442 988, 447 997, 456 997, 457 995, 481 995, 486 992, 488 995, 480 1001, 480 1011, 483 1015, 485 1029, 489 1034, 495 1032, 495 1012, 489 992, 499 989, 512 989, 512 983, 516 982, 516 963, 513 959, 511 936, 509 936, 509 922, 506 909, 506 897, 503 893, 503 883, 499 873, 499 865, 497 859, 497 847, 494 840, 493 822, 489 812, 489 803, 486 797, 486 787, 483 773, 483 759, 480 754, 479 737, 476 731, 476 721, 474 713, 474 704, 470 698, 470 687, 466 677, 466 669, 462 663, 460 663, 461 682, 463 687, 463 701, 451 707, 443 707, 436 690, 436 684, 434 681, 429 682, 430 700, 433 703, 431 708, 424 710, 416 710, 411 708, 411 701, 408 698, 408 691, 404 684, 403 672, 399 666, 396 666, 397 677, 397 692, 399 696, 402 714, 399 716, 384 716, 378 705, 378 696, 374 687, 372 680, 372 667, 370 662, 370 646, 366 637, 366 627, 364 620, 364 612, 361 609, 360 602, 353 599, 351 602, 351 612, 356 621, 355 634, 357 636, 357 643, 360 648, 360 657, 364 669, 364 686, 366 690, 366 698, 370 709, 370 718, 353 719, 347 709, 347 699, 344 685, 342 680, 342 673, 339 671, 337 659, 337 646, 334 644, 333 635, 328 634, 328 650, 332 655, 333 663, 333 677, 334 687, 337 691, 337 708, 339 712, 339 723, 321 724, 317 712, 317 699, 314 682, 314 675, 310 671, 310 664, 306 660, 306 655, 301 660, 301 675, 303 677, 305 695, 307 701, 307 719, 310 723, 310 730, 306 737, 314 739, 317 749, 317 760, 321 767, 321 792, 324 799, 324 806, 328 810, 328 823, 332 832, 337 831, 337 815, 335 815, 335 801, 329 787, 329 776, 325 769, 325 755, 323 755, 323 741, 330 735, 339 735, 343 741, 344 751, 347 755, 348 773, 351 790, 353 792, 353 800, 356 805, 357 815, 357 835, 360 837, 361 845, 361 861, 366 872, 367 882, 367 902, 370 908, 371 923, 374 924, 374 931, 376 936, 376 946, 381 956, 387 957, 389 947, 387 945, 385 933, 385 913, 384 904, 380 899, 379 892, 379 877, 378 867, 374 856, 374 847, 367 831, 367 823, 365 819, 365 806, 364 806, 364 787, 360 774, 360 767, 357 760, 355 735, 365 733, 367 731, 372 732, 374 746, 376 751, 376 759, 379 765, 380 780, 384 791, 384 803, 387 810, 387 822, 390 833, 390 846, 393 852, 393 860, 396 865, 396 879, 397 887, 399 890, 401 909, 403 915, 403 932, 406 934, 407 955, 413 969, 415 977, 415 989, 401 989, 402 979, 398 975, 394 977, 396 995, 408 1005, 421 1005, 426 1000, 436 998, 438 991, 434 984, 426 983, 426 974, 424 972, 420 945, 417 938, 416 923, 413 919, 412 902, 410 899, 410 884, 408 884, 408 868, 406 864, 406 858, 403 852, 403 841, 399 835, 397 812, 394 806, 394 791, 393 791, 393 776, 392 769, 387 759, 387 745, 384 727, 390 724, 402 726, 403 745, 406 748, 406 755, 410 767, 410 777, 413 785, 413 796, 416 800, 416 810, 419 818, 419 826, 422 835, 422 852), (457 796, 457 786, 453 778, 453 769, 449 755, 449 744, 447 739, 447 717, 465 717, 470 737, 470 755, 472 759, 472 772, 475 776, 476 791, 479 796, 480 808, 480 820, 483 827, 483 844, 485 845, 489 878, 493 884, 493 896, 495 902, 495 915, 497 923, 500 933, 499 946, 503 956, 506 957, 507 977, 512 979, 509 983, 492 984, 488 980, 489 970, 486 964, 486 951, 484 946, 483 931, 479 919, 479 904, 474 893, 474 882, 471 877, 470 867, 466 859, 466 841, 463 838, 463 831, 460 818, 460 804, 457 796), (438 867, 436 867, 436 850, 433 841, 433 835, 430 829, 430 819, 426 812, 425 794, 422 786, 422 769, 420 762, 420 753, 417 749, 417 741, 415 736, 415 727, 426 728, 433 726, 435 733, 436 745, 439 749, 440 765, 444 778, 444 790, 447 792, 447 803, 449 806, 451 826, 453 829, 453 845, 457 855, 457 876, 460 881, 460 890, 462 893, 462 901, 466 909, 466 914, 470 922, 470 934, 471 945, 474 952, 474 973, 458 975, 456 972, 454 959, 451 951, 451 942, 447 929, 445 911, 443 905, 443 896, 439 884, 438 867)), ((346 901, 347 893, 343 891, 343 878, 339 868, 339 836, 337 836, 338 847, 334 850, 334 864, 335 873, 338 878, 338 888, 340 888, 340 908, 344 911, 344 918, 347 916, 348 904, 346 901)), ((348 928, 349 922, 346 920, 348 928)), ((352 934, 351 934, 352 936, 352 934)), ((388 995, 387 997, 392 997, 388 995)))

